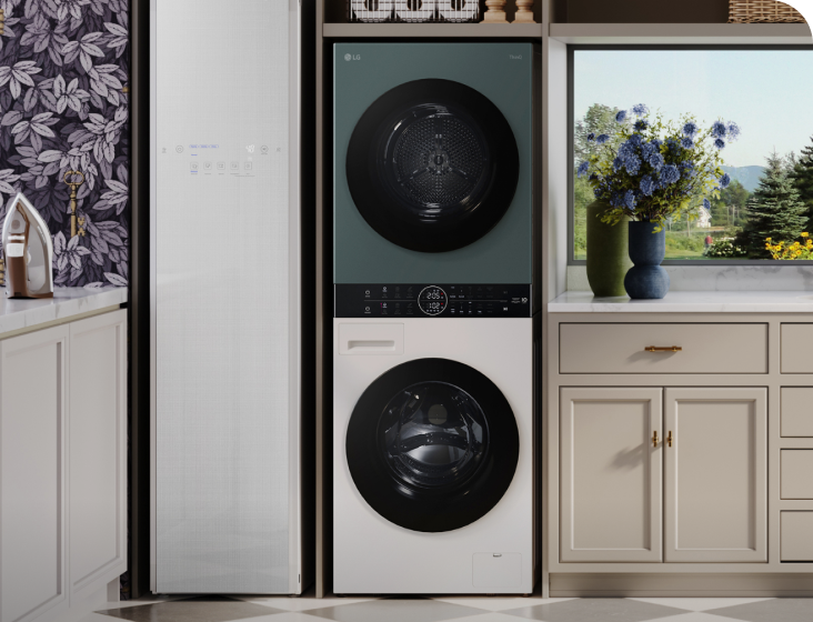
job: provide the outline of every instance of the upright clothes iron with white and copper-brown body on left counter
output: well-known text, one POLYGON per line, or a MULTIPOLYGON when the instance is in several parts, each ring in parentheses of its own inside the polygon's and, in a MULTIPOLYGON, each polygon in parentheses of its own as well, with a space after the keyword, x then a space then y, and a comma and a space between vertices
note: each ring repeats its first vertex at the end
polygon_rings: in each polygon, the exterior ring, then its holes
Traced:
POLYGON ((53 242, 46 221, 20 192, 2 233, 7 298, 53 298, 53 242))

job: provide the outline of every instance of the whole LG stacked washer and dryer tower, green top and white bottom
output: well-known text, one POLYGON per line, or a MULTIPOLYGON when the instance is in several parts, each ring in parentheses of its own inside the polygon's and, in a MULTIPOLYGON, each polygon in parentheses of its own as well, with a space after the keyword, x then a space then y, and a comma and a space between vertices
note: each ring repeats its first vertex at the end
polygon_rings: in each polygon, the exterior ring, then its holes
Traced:
POLYGON ((334 47, 337 593, 533 589, 535 59, 334 47))

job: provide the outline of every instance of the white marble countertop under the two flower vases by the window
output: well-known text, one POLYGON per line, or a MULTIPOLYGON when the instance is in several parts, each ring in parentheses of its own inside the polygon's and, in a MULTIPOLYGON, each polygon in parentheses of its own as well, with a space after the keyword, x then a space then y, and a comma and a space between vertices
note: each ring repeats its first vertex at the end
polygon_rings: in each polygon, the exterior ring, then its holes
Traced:
POLYGON ((564 292, 548 303, 549 313, 813 313, 813 292, 675 291, 661 300, 595 298, 564 292))

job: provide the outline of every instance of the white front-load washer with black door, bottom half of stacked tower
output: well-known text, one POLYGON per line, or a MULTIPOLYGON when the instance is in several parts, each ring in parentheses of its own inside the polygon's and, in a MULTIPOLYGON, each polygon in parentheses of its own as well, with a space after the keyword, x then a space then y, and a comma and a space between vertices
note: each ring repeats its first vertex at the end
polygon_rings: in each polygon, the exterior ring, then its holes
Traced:
POLYGON ((531 593, 532 322, 334 319, 335 593, 531 593))

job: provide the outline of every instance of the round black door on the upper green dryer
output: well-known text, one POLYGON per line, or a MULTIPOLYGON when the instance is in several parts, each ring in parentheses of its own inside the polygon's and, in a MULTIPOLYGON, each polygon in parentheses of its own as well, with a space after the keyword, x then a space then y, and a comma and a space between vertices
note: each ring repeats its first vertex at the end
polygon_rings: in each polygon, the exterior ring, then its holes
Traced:
POLYGON ((348 184, 364 220, 390 242, 451 251, 508 211, 520 153, 502 112, 451 80, 406 82, 364 112, 348 147, 348 184))

